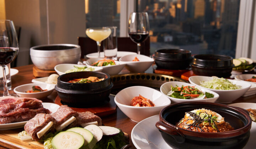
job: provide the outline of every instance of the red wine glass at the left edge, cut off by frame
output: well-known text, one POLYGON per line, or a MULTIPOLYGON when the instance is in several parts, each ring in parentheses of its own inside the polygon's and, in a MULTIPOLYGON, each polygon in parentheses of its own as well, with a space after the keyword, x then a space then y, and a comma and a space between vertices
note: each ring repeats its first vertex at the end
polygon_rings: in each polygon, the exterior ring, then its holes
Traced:
POLYGON ((6 83, 6 65, 11 63, 16 58, 17 54, 18 39, 14 23, 10 20, 0 20, 0 65, 3 71, 3 96, 10 96, 6 83))

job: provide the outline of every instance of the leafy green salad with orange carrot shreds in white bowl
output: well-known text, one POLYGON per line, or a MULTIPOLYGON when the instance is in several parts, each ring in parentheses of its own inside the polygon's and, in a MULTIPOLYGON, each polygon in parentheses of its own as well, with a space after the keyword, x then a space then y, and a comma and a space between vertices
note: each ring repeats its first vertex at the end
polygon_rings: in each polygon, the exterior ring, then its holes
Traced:
POLYGON ((171 91, 167 93, 168 96, 172 98, 178 98, 178 99, 206 99, 206 98, 213 98, 214 95, 211 93, 206 92, 205 94, 200 91, 197 88, 191 87, 191 86, 184 86, 182 85, 181 87, 172 87, 171 86, 171 91))

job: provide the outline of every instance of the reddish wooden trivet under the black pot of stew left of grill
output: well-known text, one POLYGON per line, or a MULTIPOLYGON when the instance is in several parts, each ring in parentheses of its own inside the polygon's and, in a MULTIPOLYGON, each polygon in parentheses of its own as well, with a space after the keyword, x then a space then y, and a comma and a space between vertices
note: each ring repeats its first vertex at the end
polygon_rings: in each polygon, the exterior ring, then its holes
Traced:
MULTIPOLYGON (((90 108, 70 107, 70 108, 73 109, 74 111, 78 111, 78 112, 90 111, 100 117, 107 116, 107 115, 115 113, 117 110, 117 105, 114 102, 114 96, 110 95, 109 98, 110 98, 110 101, 107 104, 101 105, 98 107, 90 107, 90 108)), ((63 104, 60 101, 61 101, 60 97, 57 96, 55 99, 55 104, 62 106, 63 104)))

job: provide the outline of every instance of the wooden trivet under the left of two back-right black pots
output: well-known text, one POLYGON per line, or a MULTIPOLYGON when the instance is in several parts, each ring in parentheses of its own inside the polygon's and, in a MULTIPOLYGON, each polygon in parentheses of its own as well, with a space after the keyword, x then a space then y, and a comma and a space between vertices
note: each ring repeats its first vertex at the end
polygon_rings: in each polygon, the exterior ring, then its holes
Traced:
POLYGON ((158 68, 156 65, 153 66, 154 73, 158 74, 164 74, 164 75, 171 75, 175 77, 181 77, 181 75, 187 71, 190 71, 191 69, 185 69, 185 70, 168 70, 168 69, 162 69, 158 68))

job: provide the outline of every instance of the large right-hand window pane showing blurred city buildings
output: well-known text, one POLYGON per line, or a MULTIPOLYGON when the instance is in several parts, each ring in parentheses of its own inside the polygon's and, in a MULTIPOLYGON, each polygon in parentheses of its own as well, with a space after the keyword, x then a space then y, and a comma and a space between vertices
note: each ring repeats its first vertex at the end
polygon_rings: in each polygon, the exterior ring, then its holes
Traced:
POLYGON ((138 0, 148 12, 150 53, 163 48, 235 57, 240 0, 138 0))

